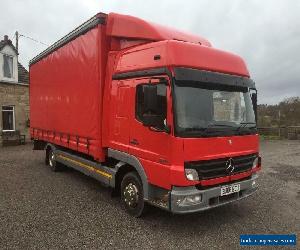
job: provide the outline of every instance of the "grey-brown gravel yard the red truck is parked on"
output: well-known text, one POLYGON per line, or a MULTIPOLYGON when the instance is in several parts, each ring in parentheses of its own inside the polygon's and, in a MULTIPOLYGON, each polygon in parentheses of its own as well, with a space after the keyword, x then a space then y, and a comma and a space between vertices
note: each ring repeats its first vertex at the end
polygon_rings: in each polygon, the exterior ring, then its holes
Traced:
POLYGON ((236 249, 252 233, 298 233, 299 242, 300 142, 263 141, 261 150, 252 198, 180 216, 151 208, 135 219, 97 181, 51 172, 31 144, 0 147, 0 248, 236 249))

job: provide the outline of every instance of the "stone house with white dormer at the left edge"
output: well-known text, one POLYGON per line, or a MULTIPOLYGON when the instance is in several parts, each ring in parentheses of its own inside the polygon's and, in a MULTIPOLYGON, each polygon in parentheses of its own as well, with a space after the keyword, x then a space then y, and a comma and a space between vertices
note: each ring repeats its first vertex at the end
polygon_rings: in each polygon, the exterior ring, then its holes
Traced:
POLYGON ((4 135, 29 138, 29 74, 18 62, 18 51, 8 36, 0 41, 0 142, 4 135))

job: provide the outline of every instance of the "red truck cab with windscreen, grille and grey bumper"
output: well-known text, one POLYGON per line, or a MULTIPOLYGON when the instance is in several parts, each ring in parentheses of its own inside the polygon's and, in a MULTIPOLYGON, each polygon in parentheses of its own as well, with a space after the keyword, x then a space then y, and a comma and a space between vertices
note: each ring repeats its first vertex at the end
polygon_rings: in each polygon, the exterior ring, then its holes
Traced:
POLYGON ((166 40, 115 58, 105 145, 138 159, 165 207, 201 211, 256 191, 257 94, 240 57, 166 40))

